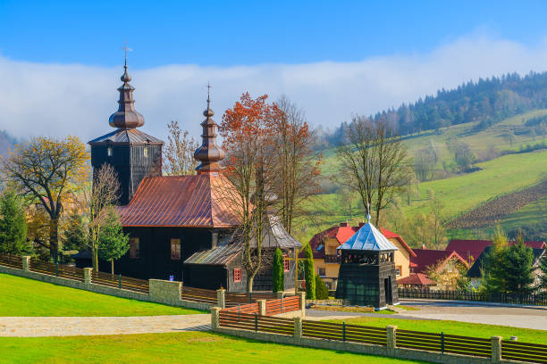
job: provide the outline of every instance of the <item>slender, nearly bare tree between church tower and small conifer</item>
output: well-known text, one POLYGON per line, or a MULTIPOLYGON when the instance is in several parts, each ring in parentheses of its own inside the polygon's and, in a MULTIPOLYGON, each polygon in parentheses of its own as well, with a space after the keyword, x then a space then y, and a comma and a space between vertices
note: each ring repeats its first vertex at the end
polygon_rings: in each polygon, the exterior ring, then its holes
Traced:
POLYGON ((119 192, 118 174, 114 167, 108 163, 94 171, 93 180, 88 182, 88 187, 84 190, 89 232, 87 241, 91 249, 93 269, 96 271, 98 271, 101 231, 105 226, 108 210, 112 209, 120 198, 119 192))

